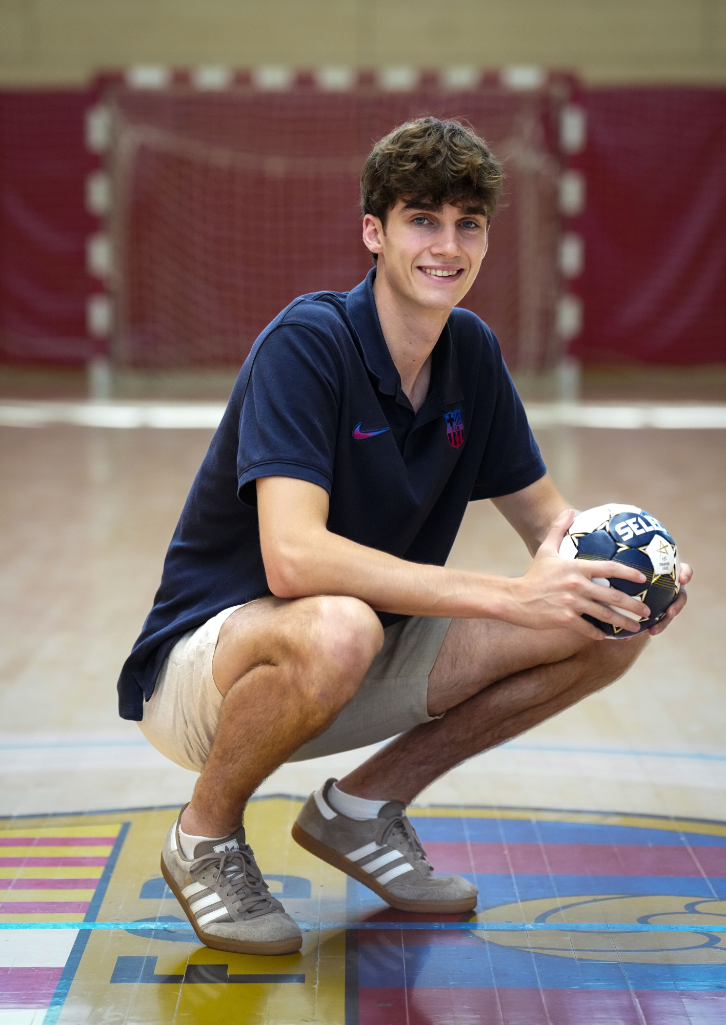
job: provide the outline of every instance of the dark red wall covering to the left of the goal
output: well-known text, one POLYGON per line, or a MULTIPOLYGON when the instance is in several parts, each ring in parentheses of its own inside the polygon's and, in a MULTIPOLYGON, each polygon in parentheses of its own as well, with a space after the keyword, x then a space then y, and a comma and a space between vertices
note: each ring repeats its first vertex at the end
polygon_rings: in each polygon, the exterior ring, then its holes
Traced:
POLYGON ((0 93, 0 359, 82 363, 88 95, 0 93))

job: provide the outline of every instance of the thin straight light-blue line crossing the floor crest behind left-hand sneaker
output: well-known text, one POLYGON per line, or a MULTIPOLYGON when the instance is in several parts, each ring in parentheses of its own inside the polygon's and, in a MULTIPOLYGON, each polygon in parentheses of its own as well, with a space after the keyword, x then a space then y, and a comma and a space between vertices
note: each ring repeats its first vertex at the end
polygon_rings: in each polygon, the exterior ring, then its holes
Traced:
MULTIPOLYGON (((633 921, 298 921, 300 929, 478 929, 487 933, 726 933, 726 926, 647 926, 633 921)), ((194 931, 176 921, 2 921, 3 929, 78 929, 108 930, 169 930, 175 933, 194 931)))

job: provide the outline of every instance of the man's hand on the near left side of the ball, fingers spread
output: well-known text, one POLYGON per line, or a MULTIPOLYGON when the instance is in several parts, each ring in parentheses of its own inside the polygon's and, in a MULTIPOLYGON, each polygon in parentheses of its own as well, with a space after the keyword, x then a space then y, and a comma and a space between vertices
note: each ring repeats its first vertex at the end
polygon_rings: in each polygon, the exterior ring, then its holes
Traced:
POLYGON ((561 559, 560 544, 574 518, 574 509, 566 509, 557 518, 532 565, 524 576, 512 581, 515 599, 521 609, 519 624, 533 629, 571 629, 593 641, 604 640, 602 630, 582 619, 582 615, 587 614, 633 633, 638 632, 640 623, 617 610, 627 609, 637 616, 648 616, 648 607, 615 587, 605 589, 602 584, 593 583, 592 578, 619 577, 634 583, 645 583, 645 576, 622 563, 561 559))

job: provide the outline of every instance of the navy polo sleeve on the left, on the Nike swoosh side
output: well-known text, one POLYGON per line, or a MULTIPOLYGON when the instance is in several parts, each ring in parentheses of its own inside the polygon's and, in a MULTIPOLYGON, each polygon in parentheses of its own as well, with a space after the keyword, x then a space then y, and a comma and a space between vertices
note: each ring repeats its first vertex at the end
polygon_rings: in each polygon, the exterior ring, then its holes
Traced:
POLYGON ((256 505, 260 477, 294 477, 332 485, 340 372, 315 331, 285 323, 254 354, 242 400, 237 452, 238 494, 256 505))

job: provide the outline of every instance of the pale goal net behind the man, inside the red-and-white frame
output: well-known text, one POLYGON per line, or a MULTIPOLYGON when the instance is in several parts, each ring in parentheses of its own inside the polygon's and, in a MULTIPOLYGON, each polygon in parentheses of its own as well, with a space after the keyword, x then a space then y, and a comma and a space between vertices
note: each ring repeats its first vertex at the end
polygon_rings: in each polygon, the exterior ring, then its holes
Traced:
POLYGON ((239 365, 296 295, 365 276, 361 168, 422 114, 466 119, 503 161, 487 257, 463 305, 510 366, 559 358, 561 90, 387 92, 110 88, 112 359, 134 368, 239 365))

